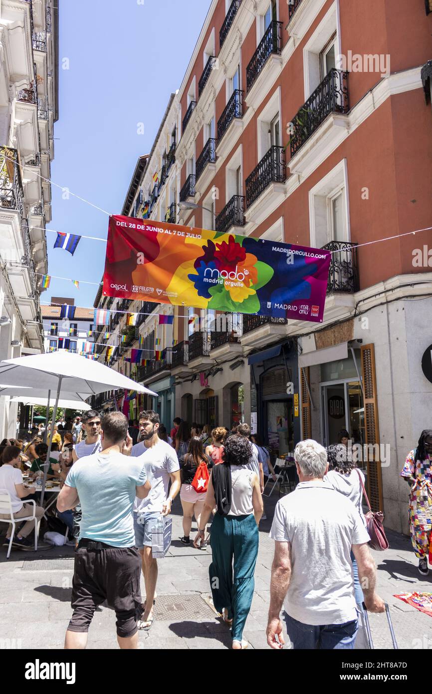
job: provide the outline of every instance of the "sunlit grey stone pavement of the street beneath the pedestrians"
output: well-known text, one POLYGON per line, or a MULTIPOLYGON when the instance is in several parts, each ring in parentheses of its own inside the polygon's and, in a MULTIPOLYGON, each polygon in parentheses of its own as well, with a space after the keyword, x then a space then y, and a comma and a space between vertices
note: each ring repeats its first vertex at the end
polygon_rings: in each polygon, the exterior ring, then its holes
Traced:
MULTIPOLYGON (((261 521, 259 527, 255 592, 244 632, 253 648, 268 648, 265 632, 273 560, 273 542, 268 532, 276 501, 276 493, 274 498, 266 499, 268 520, 261 521)), ((140 648, 230 648, 230 631, 211 607, 211 549, 204 552, 180 543, 182 518, 178 499, 173 506, 173 521, 171 550, 158 562, 155 623, 150 632, 139 632, 140 648)), ((192 527, 191 537, 195 535, 195 523, 192 527)), ((399 648, 432 648, 432 618, 393 597, 404 591, 432 590, 432 573, 424 578, 417 572, 417 560, 408 538, 389 531, 388 539, 390 549, 373 554, 379 594, 390 605, 399 648)), ((0 547, 0 648, 62 648, 71 616, 73 549, 53 548, 36 554, 12 550, 7 560, 6 548, 0 547)), ((141 590, 144 595, 144 581, 141 590)), ((370 623, 375 648, 392 648, 386 616, 371 615, 370 623)), ((101 607, 96 611, 88 648, 118 648, 112 610, 101 607)))

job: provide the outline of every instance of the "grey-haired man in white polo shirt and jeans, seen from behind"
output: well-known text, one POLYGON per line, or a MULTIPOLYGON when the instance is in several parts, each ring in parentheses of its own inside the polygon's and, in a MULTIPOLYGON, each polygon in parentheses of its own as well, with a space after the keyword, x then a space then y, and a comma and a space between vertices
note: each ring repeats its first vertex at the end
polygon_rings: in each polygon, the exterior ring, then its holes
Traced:
POLYGON ((279 613, 284 603, 286 631, 294 649, 352 649, 358 629, 350 552, 358 565, 365 605, 383 612, 375 593, 376 568, 369 535, 349 499, 323 480, 325 448, 310 439, 297 443, 295 491, 275 509, 270 538, 275 540, 270 584, 267 641, 282 648, 279 613))

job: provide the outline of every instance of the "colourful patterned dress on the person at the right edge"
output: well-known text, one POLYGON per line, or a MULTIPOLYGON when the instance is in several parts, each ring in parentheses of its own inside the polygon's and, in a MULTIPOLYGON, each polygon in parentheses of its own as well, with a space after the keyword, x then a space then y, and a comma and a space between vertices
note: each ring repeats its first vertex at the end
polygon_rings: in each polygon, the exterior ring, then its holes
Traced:
POLYGON ((432 459, 417 460, 415 449, 408 453, 401 477, 415 477, 410 494, 411 542, 417 559, 427 559, 432 530, 432 459))

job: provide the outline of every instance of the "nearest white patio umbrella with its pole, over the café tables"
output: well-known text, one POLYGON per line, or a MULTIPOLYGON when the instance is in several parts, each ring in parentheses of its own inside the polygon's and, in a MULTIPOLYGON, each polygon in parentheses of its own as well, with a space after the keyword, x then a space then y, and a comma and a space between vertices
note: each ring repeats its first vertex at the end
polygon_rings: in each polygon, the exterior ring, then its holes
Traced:
MULTIPOLYGON (((156 396, 145 386, 135 383, 127 376, 104 366, 93 359, 86 359, 80 355, 58 350, 47 354, 32 354, 16 359, 6 359, 0 362, 0 382, 5 386, 26 387, 33 386, 43 391, 56 390, 53 420, 51 422, 50 442, 53 440, 55 415, 57 414, 60 393, 74 393, 78 399, 88 398, 107 390, 123 388, 148 393, 156 396)), ((0 391, 0 395, 5 394, 0 391)), ((15 395, 21 395, 19 390, 15 395)), ((49 443, 47 464, 44 470, 42 484, 41 503, 44 500, 46 475, 49 469, 49 457, 51 455, 51 443, 49 443)))

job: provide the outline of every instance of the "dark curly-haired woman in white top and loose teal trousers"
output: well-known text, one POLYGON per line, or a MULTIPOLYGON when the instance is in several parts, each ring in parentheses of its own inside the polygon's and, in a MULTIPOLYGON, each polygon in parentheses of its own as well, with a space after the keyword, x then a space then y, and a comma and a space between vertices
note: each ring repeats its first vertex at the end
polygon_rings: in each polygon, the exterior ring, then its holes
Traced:
POLYGON ((254 595, 254 570, 258 555, 258 524, 263 513, 259 478, 248 468, 252 445, 234 434, 224 444, 223 464, 211 471, 200 527, 193 544, 204 541, 204 530, 214 507, 211 524, 209 578, 214 607, 232 629, 232 648, 247 648, 243 629, 254 595))

